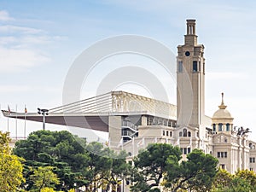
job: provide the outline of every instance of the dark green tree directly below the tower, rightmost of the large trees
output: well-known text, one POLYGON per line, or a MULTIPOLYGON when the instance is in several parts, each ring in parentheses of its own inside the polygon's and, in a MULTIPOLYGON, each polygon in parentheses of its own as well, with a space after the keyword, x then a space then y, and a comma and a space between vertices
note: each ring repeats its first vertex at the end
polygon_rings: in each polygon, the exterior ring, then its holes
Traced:
POLYGON ((181 163, 177 163, 172 157, 167 160, 166 187, 171 188, 173 192, 178 189, 211 189, 218 172, 218 160, 199 149, 194 149, 187 155, 187 159, 181 163))

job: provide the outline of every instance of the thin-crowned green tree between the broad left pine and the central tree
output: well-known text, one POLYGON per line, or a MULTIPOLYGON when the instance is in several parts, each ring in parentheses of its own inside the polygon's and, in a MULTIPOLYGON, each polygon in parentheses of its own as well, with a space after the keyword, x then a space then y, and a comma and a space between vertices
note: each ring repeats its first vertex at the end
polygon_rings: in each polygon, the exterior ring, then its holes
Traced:
POLYGON ((98 188, 108 190, 111 186, 116 188, 121 177, 128 172, 125 162, 127 154, 116 154, 109 148, 103 148, 101 143, 90 143, 86 146, 90 151, 89 166, 86 167, 84 177, 87 179, 86 191, 96 191, 98 188))

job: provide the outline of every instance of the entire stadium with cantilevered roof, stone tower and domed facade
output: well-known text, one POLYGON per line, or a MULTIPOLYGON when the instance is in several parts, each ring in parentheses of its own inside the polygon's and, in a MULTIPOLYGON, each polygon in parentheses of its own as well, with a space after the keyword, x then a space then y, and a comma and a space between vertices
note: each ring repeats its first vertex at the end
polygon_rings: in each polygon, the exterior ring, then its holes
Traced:
MULTIPOLYGON (((219 160, 219 166, 234 173, 255 171, 256 143, 248 141, 248 129, 233 125, 224 105, 205 115, 204 45, 197 44, 195 20, 187 20, 184 44, 177 46, 177 107, 170 103, 112 91, 69 105, 49 109, 47 123, 90 128, 109 133, 109 147, 125 149, 129 159, 148 143, 170 143, 183 152, 183 160, 193 148, 201 148, 219 160)), ((12 113, 11 118, 42 121, 37 113, 12 113)))

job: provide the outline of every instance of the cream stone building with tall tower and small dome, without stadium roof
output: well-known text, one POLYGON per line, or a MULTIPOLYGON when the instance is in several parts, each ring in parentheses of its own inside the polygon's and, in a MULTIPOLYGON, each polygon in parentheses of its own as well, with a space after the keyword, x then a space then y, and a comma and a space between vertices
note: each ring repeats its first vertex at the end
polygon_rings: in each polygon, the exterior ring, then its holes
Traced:
POLYGON ((233 125, 234 118, 226 108, 222 94, 212 118, 205 115, 204 45, 197 44, 195 20, 187 20, 184 44, 177 46, 177 124, 150 125, 149 117, 144 116, 144 124, 137 126, 137 137, 122 148, 132 159, 149 143, 171 143, 181 148, 183 160, 193 148, 201 148, 218 158, 219 166, 228 172, 255 171, 256 143, 248 140, 248 129, 233 125))

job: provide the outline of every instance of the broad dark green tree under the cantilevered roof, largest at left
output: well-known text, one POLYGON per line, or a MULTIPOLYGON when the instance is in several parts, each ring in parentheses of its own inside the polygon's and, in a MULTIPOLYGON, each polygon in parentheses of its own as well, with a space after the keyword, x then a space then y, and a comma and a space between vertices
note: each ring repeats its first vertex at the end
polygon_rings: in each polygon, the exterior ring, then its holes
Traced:
MULTIPOLYGON (((56 184, 57 190, 73 189, 84 185, 81 170, 87 167, 88 153, 81 146, 84 139, 73 137, 68 131, 35 131, 26 140, 15 144, 14 153, 24 158, 23 189, 32 189, 32 168, 54 166, 55 174, 61 183, 56 184)), ((84 173, 83 173, 84 174, 84 173)))

